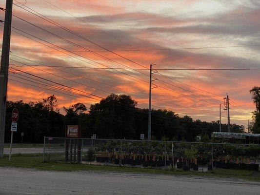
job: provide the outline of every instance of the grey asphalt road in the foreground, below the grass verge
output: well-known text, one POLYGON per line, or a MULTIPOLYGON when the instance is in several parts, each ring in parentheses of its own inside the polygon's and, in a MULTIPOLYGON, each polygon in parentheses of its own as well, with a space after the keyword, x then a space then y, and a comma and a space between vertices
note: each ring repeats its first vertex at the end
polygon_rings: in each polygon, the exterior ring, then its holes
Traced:
POLYGON ((257 195, 260 182, 212 177, 0 168, 0 195, 257 195))

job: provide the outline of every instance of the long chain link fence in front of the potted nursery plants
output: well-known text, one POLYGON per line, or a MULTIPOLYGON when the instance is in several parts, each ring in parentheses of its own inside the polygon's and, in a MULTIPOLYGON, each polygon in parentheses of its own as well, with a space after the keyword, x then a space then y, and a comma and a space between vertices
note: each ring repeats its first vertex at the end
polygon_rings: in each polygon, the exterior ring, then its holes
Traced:
POLYGON ((45 137, 43 161, 201 172, 215 168, 258 171, 260 145, 45 137))

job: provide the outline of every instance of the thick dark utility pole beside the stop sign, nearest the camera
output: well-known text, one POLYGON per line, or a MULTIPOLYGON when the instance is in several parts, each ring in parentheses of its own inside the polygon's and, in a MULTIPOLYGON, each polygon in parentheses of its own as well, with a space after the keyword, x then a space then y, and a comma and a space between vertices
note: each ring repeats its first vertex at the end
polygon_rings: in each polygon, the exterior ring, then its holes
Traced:
POLYGON ((0 158, 3 157, 13 0, 6 0, 0 67, 0 158))

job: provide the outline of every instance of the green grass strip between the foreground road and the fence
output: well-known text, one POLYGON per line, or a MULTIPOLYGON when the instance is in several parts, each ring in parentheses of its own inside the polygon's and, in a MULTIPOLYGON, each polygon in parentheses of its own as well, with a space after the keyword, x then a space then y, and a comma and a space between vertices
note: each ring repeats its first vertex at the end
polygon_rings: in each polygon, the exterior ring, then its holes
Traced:
POLYGON ((70 164, 60 162, 42 162, 42 154, 16 154, 12 156, 11 162, 8 157, 0 159, 0 167, 21 167, 34 168, 47 171, 107 171, 107 172, 128 172, 128 173, 147 173, 165 175, 189 175, 189 176, 218 176, 235 177, 260 181, 259 176, 254 176, 254 171, 214 169, 214 173, 184 172, 181 170, 163 170, 153 168, 134 168, 134 167, 114 167, 88 164, 70 164))

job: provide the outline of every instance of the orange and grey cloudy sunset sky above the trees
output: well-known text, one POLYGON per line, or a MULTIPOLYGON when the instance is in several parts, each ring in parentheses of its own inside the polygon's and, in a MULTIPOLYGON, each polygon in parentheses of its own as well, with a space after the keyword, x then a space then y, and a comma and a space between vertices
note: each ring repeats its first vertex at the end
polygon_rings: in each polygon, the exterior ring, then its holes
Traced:
POLYGON ((174 69, 259 68, 259 0, 13 3, 8 100, 55 94, 64 113, 63 106, 89 107, 115 93, 148 108, 155 64, 152 108, 215 121, 221 104, 225 123, 228 93, 231 122, 247 126, 251 120, 249 90, 260 86, 260 70, 174 69))

